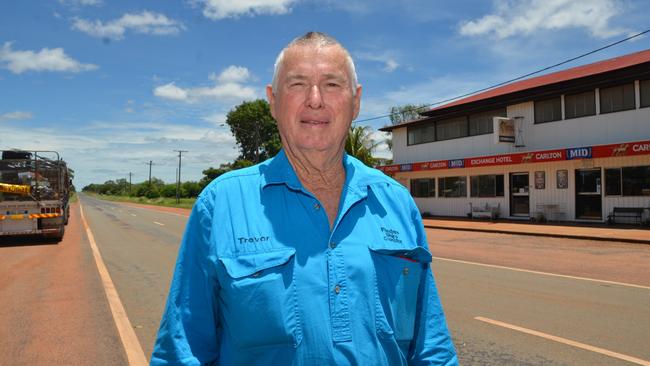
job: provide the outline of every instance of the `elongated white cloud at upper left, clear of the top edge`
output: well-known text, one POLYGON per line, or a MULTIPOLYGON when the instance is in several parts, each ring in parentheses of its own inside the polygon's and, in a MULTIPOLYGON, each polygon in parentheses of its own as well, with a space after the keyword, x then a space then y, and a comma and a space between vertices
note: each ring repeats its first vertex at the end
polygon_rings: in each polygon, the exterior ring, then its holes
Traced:
POLYGON ((119 19, 106 23, 101 20, 89 21, 75 18, 72 28, 93 37, 120 40, 129 30, 142 34, 170 35, 180 33, 185 26, 176 20, 167 18, 164 14, 143 11, 127 13, 119 19))

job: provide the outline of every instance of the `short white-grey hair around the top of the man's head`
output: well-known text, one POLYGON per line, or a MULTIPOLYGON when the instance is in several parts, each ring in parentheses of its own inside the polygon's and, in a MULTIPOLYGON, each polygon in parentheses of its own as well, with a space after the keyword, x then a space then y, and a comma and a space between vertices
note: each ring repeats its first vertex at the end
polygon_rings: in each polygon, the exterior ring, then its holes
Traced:
POLYGON ((354 96, 357 94, 357 87, 359 86, 359 82, 357 79, 357 70, 354 67, 354 60, 352 60, 350 52, 348 52, 348 50, 343 47, 339 41, 321 32, 307 32, 304 35, 291 41, 291 43, 289 43, 285 48, 282 49, 282 51, 280 51, 278 58, 275 59, 275 65, 273 67, 273 80, 271 81, 273 94, 275 94, 275 91, 278 90, 278 77, 280 75, 280 69, 284 63, 284 55, 286 54, 287 50, 293 46, 340 47, 345 54, 345 64, 348 68, 348 74, 352 78, 350 83, 350 87, 352 88, 352 95, 354 96))

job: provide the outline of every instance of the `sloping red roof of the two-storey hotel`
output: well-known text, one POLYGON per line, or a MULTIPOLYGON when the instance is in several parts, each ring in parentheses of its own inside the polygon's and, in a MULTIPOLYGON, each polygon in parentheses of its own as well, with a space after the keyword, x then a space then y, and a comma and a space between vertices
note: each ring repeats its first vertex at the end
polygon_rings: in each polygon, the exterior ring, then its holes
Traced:
MULTIPOLYGON (((615 58, 610 58, 607 60, 594 62, 587 65, 572 67, 570 69, 561 70, 553 72, 550 74, 545 74, 541 76, 536 76, 530 79, 524 79, 521 81, 516 81, 510 84, 506 84, 494 89, 484 91, 482 93, 474 94, 472 96, 462 98, 451 103, 430 109, 421 114, 425 117, 437 116, 444 114, 447 110, 458 109, 460 106, 467 106, 469 104, 475 104, 477 102, 484 102, 491 99, 503 99, 508 95, 518 94, 521 92, 529 91, 531 89, 542 88, 553 84, 565 83, 568 81, 593 77, 599 74, 610 73, 617 70, 622 70, 625 68, 630 68, 633 66, 638 66, 641 64, 650 63, 650 49, 631 53, 628 55, 623 55, 615 58)), ((427 118, 425 118, 426 120, 427 118)), ((386 126, 381 128, 382 131, 391 131, 395 128, 404 127, 410 124, 416 124, 417 122, 422 122, 423 119, 418 119, 415 121, 408 121, 401 123, 399 125, 386 126)))

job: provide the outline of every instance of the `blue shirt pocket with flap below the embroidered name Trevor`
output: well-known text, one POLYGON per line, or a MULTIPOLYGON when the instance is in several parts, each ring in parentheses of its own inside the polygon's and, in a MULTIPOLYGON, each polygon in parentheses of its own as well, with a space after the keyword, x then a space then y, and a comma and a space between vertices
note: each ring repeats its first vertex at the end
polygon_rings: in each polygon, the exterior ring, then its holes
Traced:
POLYGON ((219 258, 225 332, 238 348, 298 347, 302 330, 294 281, 296 250, 219 258))

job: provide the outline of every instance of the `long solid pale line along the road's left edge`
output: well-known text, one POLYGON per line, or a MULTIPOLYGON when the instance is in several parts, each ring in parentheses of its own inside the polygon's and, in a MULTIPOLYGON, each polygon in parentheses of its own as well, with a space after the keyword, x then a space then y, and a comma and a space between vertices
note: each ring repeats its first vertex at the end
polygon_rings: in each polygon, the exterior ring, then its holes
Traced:
POLYGON ((83 207, 79 203, 79 212, 81 213, 81 222, 83 223, 84 228, 86 229, 86 235, 88 236, 88 241, 90 242, 90 248, 93 252, 93 257, 95 258, 95 264, 97 265, 97 271, 102 280, 102 285, 104 287, 104 292, 106 293, 106 299, 108 300, 108 305, 111 309, 111 314, 113 315, 113 320, 117 327, 120 340, 122 341, 122 346, 124 346, 124 351, 128 359, 130 366, 146 366, 148 365, 147 358, 142 351, 142 346, 138 341, 138 337, 133 331, 133 326, 129 321, 129 317, 124 310, 122 301, 120 301, 120 296, 115 289, 115 285, 111 280, 111 276, 108 273, 108 269, 104 264, 102 255, 97 248, 95 243, 95 237, 90 231, 88 222, 86 222, 86 217, 84 216, 83 207))

